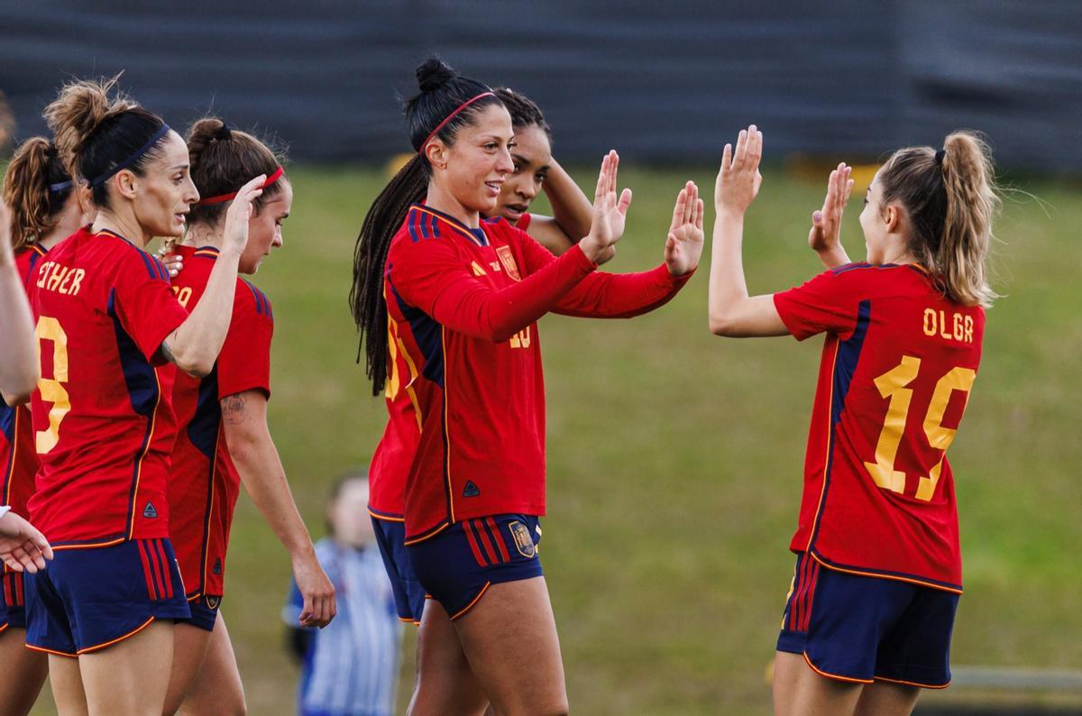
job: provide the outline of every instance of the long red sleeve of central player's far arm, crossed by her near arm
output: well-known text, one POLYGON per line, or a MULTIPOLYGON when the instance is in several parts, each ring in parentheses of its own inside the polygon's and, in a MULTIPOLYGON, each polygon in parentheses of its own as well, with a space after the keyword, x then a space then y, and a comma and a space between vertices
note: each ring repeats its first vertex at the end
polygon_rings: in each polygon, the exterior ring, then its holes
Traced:
MULTIPOLYGON (((533 274, 555 257, 528 235, 516 235, 526 273, 533 274)), ((664 264, 639 274, 595 271, 556 304, 554 313, 585 318, 631 318, 663 306, 684 288, 695 271, 672 276, 664 264)))

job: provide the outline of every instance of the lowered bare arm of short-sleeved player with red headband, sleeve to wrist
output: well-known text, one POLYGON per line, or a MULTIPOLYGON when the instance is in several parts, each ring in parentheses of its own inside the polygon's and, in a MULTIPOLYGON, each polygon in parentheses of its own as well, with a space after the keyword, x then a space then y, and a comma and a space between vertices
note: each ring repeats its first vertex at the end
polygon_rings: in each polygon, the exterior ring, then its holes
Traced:
POLYGON ((230 396, 223 400, 222 409, 226 445, 240 481, 290 557, 315 559, 312 538, 293 501, 266 421, 246 401, 243 395, 230 396))

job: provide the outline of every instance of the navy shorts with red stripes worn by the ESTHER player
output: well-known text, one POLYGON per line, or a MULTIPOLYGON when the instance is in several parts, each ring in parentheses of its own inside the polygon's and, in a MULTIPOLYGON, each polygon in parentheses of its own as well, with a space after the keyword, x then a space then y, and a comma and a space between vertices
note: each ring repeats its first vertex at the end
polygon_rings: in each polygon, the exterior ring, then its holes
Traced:
POLYGON ((25 575, 26 646, 64 657, 104 649, 156 619, 188 619, 184 580, 168 539, 57 549, 25 575))

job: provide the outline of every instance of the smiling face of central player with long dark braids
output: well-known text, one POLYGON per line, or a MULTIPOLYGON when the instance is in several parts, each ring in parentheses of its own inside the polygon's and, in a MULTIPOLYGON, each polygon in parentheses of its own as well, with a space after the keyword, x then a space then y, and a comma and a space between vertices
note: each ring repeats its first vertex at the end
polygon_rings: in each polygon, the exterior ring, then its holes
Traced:
MULTIPOLYGON (((466 212, 490 215, 504 180, 514 170, 514 132, 503 105, 488 105, 462 127, 450 147, 439 143, 428 150, 433 183, 466 212)), ((433 142, 436 144, 436 142, 433 142)))

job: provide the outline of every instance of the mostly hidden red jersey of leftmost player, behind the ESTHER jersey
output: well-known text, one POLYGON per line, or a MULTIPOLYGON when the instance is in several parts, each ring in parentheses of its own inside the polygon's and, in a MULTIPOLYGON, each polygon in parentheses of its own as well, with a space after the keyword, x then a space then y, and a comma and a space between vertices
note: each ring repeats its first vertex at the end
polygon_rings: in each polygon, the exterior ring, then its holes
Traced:
MULTIPOLYGON (((30 281, 38 261, 45 250, 30 244, 15 254, 15 268, 23 284, 30 281)), ((3 469, 3 502, 19 515, 26 514, 26 503, 34 494, 34 476, 38 472, 38 453, 34 449, 34 430, 30 428, 30 409, 27 406, 11 408, 0 401, 0 469, 3 469)), ((4 571, 8 571, 6 567, 4 571)))

